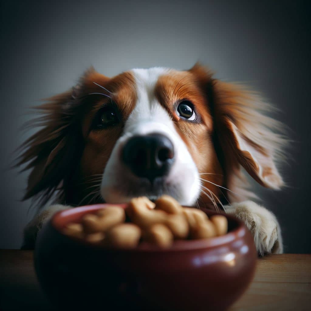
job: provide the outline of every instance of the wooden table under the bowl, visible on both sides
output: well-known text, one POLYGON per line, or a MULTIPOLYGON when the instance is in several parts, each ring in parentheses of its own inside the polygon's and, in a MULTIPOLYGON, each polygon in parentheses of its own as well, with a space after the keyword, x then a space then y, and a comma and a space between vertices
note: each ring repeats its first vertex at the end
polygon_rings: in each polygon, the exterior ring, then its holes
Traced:
MULTIPOLYGON (((0 250, 0 310, 30 308, 52 310, 35 276, 33 252, 0 250)), ((230 308, 236 310, 311 310, 311 255, 259 259, 252 284, 230 308)))

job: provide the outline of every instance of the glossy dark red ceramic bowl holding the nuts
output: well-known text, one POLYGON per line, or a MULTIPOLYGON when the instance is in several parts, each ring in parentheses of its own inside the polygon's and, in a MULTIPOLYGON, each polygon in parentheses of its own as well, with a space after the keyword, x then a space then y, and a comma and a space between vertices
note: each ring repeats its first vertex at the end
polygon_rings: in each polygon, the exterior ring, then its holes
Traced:
POLYGON ((104 207, 60 211, 38 235, 35 269, 58 309, 225 310, 253 278, 253 238, 229 215, 227 234, 175 241, 169 249, 146 243, 131 250, 105 249, 61 233, 67 223, 104 207))

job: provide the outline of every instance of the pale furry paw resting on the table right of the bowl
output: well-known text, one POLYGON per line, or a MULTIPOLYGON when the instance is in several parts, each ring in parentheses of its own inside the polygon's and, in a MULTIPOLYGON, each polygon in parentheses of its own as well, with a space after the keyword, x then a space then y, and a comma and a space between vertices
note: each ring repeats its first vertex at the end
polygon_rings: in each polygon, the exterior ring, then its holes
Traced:
POLYGON ((280 225, 272 212, 252 201, 233 203, 225 210, 244 222, 253 234, 260 255, 283 253, 280 225))

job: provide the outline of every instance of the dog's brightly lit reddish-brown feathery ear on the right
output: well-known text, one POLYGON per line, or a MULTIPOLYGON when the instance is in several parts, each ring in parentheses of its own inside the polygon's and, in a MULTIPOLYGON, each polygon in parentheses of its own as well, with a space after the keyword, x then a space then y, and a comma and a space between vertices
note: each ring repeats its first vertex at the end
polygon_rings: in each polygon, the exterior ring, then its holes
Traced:
POLYGON ((264 112, 271 106, 243 86, 211 79, 209 101, 225 170, 243 166, 262 186, 280 189, 283 179, 276 159, 286 143, 282 124, 264 112))

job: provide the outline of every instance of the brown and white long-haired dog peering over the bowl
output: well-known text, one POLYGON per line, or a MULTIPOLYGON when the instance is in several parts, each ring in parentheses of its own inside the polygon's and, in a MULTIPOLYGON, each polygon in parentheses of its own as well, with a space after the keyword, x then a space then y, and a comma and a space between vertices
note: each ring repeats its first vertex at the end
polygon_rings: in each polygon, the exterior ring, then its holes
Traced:
POLYGON ((113 78, 90 68, 38 109, 33 126, 41 129, 22 144, 17 164, 31 169, 24 199, 58 204, 26 226, 23 248, 34 247, 56 211, 168 194, 186 206, 222 205, 244 221, 259 254, 283 252, 275 215, 250 201, 242 171, 264 187, 284 186, 276 168, 283 127, 258 94, 198 63, 113 78))

